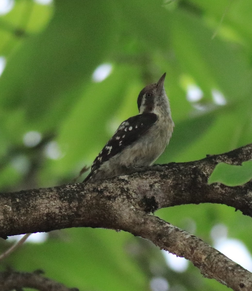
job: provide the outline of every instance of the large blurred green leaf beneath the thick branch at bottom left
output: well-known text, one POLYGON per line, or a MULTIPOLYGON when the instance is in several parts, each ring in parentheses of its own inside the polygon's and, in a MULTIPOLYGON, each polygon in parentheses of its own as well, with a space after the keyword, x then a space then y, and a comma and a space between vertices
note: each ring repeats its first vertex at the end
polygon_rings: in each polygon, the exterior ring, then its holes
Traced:
POLYGON ((127 252, 127 242, 135 241, 129 233, 72 228, 54 235, 44 243, 24 244, 6 262, 17 270, 43 269, 46 276, 80 290, 146 290, 146 275, 127 252))

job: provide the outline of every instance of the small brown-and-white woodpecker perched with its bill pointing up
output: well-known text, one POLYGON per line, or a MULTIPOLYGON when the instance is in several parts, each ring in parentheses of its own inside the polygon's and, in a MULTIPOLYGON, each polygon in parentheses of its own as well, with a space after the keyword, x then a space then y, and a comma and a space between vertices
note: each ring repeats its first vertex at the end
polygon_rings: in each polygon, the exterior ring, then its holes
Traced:
POLYGON ((142 89, 137 100, 139 114, 120 124, 83 182, 125 175, 127 169, 152 165, 162 154, 174 127, 164 88, 165 74, 142 89))

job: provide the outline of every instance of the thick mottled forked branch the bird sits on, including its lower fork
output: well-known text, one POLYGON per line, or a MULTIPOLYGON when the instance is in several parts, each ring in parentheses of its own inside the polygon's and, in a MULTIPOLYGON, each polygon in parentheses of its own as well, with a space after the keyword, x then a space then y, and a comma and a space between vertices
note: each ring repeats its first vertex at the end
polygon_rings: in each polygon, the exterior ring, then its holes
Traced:
POLYGON ((81 226, 126 230, 188 258, 204 276, 233 290, 251 290, 250 272, 200 239, 146 213, 181 204, 221 203, 252 217, 251 181, 237 187, 207 184, 217 163, 239 165, 249 159, 252 144, 199 161, 163 165, 162 171, 1 194, 0 236, 81 226))

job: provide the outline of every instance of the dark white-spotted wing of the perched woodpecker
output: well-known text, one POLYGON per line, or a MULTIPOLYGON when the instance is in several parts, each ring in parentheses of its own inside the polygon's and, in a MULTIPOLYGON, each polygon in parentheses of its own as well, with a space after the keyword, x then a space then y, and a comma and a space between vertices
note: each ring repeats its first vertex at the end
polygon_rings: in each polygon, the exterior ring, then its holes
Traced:
POLYGON ((121 123, 112 138, 105 144, 100 154, 94 160, 91 173, 97 170, 101 164, 121 152, 126 146, 132 144, 145 132, 147 132, 157 120, 154 113, 143 113, 132 116, 121 123))

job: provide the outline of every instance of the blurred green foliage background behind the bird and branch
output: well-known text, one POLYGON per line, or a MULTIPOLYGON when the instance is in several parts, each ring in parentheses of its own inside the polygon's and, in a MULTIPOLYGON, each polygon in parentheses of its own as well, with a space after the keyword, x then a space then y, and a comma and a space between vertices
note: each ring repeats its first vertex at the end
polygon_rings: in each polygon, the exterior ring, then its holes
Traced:
MULTIPOLYGON (((250 0, 14 3, 0 17, 2 192, 70 183, 121 121, 138 113, 140 90, 164 72, 175 129, 158 163, 252 142, 250 0), (92 73, 103 63, 112 72, 95 82, 92 73), (29 132, 41 138, 29 143, 29 132)), ((251 219, 231 207, 181 205, 155 214, 209 244, 222 223, 252 252, 251 219)), ((156 277, 172 291, 226 290, 192 264, 172 271, 159 249, 128 233, 56 234, 25 244, 2 268, 43 269, 80 290, 151 290, 156 277)), ((1 242, 1 251, 8 246, 1 242)))

